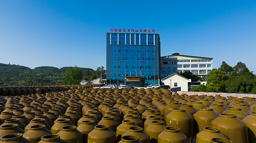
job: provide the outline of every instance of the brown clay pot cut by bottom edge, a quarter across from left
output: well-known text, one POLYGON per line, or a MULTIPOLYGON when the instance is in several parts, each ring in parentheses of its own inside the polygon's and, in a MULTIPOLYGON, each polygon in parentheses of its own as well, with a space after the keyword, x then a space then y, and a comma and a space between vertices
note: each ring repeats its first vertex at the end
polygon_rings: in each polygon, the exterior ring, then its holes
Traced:
POLYGON ((66 143, 83 143, 82 134, 76 129, 76 126, 64 126, 57 135, 60 135, 60 138, 66 143))

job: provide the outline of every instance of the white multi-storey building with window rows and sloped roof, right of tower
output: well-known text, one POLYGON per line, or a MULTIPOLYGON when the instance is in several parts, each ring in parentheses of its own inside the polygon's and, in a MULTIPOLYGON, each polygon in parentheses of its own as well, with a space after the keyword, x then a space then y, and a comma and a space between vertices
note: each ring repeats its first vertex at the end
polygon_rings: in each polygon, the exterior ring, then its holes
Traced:
POLYGON ((177 73, 190 71, 204 77, 212 70, 213 58, 180 55, 180 53, 173 53, 171 56, 162 56, 161 58, 177 58, 177 73))

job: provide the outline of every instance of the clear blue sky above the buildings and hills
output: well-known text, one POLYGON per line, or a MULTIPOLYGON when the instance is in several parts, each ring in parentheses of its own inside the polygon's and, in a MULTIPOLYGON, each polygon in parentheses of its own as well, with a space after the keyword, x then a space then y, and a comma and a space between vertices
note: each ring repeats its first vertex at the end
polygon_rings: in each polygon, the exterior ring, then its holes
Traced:
POLYGON ((255 0, 0 0, 0 63, 106 67, 111 28, 154 29, 161 56, 241 61, 256 73, 255 0))

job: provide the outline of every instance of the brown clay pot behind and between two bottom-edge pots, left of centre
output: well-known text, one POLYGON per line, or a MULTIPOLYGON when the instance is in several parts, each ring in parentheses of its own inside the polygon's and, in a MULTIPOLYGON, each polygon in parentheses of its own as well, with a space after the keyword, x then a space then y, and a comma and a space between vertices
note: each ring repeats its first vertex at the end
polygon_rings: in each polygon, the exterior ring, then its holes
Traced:
POLYGON ((81 124, 77 127, 77 130, 82 133, 84 142, 87 142, 88 134, 91 132, 96 124, 94 121, 82 121, 81 124))

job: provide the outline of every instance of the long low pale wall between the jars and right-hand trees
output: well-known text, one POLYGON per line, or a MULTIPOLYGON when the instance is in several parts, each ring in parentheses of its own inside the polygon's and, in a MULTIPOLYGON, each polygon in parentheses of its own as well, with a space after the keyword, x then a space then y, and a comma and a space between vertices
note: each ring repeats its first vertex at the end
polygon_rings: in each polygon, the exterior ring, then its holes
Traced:
POLYGON ((207 92, 193 92, 193 91, 177 91, 177 93, 179 95, 181 94, 187 94, 187 95, 221 95, 223 97, 227 97, 227 96, 233 96, 233 97, 237 97, 237 98, 242 98, 242 97, 255 97, 256 98, 256 94, 244 94, 244 93, 207 93, 207 92))

